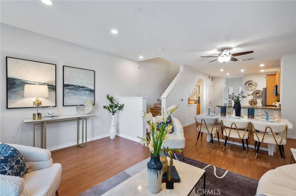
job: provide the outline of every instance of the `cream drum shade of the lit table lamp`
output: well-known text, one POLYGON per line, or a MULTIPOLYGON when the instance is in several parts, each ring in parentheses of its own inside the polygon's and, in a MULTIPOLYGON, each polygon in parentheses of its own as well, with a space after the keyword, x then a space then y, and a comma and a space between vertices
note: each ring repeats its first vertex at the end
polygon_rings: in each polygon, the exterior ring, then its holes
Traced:
POLYGON ((25 84, 24 97, 48 97, 48 86, 25 84))

